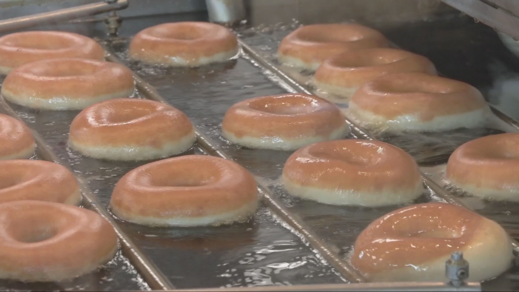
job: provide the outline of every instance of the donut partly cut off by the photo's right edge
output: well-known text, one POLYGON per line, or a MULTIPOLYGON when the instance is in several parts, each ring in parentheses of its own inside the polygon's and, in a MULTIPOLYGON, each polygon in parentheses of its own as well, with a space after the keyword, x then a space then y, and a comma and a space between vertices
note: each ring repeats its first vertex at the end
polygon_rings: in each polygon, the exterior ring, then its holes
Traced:
POLYGON ((489 135, 458 147, 447 162, 446 178, 486 199, 519 202, 519 134, 489 135))

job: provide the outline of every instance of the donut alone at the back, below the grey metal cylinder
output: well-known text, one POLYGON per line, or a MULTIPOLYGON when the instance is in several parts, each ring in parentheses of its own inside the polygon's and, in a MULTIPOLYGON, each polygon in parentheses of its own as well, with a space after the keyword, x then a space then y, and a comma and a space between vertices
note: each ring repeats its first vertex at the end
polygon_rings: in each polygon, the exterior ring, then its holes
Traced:
POLYGON ((195 67, 238 54, 236 35, 208 22, 175 22, 148 27, 133 37, 130 58, 145 63, 195 67))

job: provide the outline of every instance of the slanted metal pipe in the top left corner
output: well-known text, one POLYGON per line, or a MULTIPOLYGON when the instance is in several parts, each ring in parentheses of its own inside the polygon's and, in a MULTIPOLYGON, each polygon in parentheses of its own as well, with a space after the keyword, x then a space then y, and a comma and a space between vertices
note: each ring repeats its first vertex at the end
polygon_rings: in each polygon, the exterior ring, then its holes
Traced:
POLYGON ((37 13, 29 16, 21 16, 0 21, 0 32, 25 29, 38 24, 57 23, 79 17, 92 16, 113 10, 125 9, 128 0, 105 1, 56 11, 37 13))

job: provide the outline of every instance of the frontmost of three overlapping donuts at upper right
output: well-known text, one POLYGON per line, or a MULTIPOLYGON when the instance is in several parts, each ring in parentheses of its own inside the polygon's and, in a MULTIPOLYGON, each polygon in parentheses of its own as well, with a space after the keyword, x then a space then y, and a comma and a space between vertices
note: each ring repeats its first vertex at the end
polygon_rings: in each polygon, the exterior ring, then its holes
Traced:
POLYGON ((490 113, 476 88, 425 73, 394 73, 364 84, 348 110, 367 129, 392 131, 477 128, 490 113))

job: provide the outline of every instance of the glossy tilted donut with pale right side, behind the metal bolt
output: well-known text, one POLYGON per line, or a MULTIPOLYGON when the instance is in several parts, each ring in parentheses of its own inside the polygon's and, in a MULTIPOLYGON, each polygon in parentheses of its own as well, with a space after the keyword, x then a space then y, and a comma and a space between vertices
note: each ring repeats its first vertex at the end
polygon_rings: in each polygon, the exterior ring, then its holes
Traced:
POLYGON ((445 262, 462 252, 469 279, 480 282, 511 266, 511 240, 495 221, 445 203, 405 206, 368 225, 351 263, 372 282, 445 282, 445 262))

